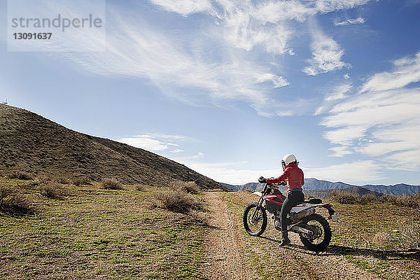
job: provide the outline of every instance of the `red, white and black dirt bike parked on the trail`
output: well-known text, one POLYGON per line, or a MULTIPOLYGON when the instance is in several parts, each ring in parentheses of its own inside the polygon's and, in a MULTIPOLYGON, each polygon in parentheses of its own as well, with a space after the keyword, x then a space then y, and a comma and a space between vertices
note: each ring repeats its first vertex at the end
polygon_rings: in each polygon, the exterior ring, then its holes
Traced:
MULTIPOLYGON (((283 183, 281 183, 283 185, 283 183)), ((258 237, 267 228, 267 212, 273 214, 274 227, 280 230, 280 211, 286 197, 276 186, 265 183, 262 193, 254 192, 251 195, 260 197, 258 202, 251 203, 244 211, 244 228, 249 235, 258 237)), ((287 216, 290 232, 299 234, 302 244, 311 251, 325 251, 331 241, 331 228, 328 221, 316 214, 316 208, 323 207, 328 210, 332 221, 337 221, 337 215, 329 203, 322 203, 320 199, 311 199, 293 207, 287 216)))

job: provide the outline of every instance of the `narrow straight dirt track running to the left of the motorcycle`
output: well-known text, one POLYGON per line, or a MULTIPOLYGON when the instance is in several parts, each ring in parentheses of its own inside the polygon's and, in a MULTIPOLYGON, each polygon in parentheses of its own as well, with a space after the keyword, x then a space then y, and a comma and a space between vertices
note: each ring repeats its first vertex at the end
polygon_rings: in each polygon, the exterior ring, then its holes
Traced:
POLYGON ((237 217, 218 193, 206 193, 206 201, 211 209, 204 274, 209 279, 255 279, 242 258, 245 245, 239 238, 237 217))

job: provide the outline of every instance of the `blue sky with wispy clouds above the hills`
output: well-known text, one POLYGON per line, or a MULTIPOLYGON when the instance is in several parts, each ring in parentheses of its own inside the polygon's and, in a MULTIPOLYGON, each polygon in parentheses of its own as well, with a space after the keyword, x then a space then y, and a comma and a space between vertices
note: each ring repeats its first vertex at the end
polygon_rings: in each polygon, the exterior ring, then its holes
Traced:
POLYGON ((278 176, 295 153, 307 178, 419 185, 419 14, 419 0, 106 1, 106 51, 71 33, 84 51, 11 52, 0 0, 0 100, 225 183, 278 176))

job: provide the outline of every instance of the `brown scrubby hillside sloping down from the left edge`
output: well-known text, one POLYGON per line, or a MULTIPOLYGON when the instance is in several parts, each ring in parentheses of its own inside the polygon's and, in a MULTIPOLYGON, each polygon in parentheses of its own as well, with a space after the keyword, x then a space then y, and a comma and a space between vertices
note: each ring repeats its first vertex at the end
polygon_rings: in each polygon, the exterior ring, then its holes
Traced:
POLYGON ((69 130, 35 113, 0 104, 0 171, 116 177, 127 183, 195 181, 201 188, 224 188, 206 176, 160 155, 69 130))

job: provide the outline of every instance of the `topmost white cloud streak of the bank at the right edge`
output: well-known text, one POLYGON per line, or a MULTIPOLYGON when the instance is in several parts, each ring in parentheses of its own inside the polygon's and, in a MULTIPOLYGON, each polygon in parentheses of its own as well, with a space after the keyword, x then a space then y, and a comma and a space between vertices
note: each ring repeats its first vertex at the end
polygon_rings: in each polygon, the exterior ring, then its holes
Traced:
POLYGON ((363 85, 362 92, 393 90, 420 81, 420 52, 393 62, 392 72, 376 73, 363 85))

